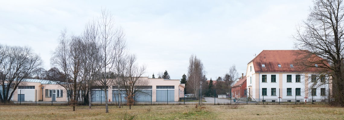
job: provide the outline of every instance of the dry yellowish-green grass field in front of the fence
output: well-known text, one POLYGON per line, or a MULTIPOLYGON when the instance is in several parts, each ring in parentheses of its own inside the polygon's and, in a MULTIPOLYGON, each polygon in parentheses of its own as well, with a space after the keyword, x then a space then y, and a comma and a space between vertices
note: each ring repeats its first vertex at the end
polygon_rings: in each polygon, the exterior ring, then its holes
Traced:
POLYGON ((328 105, 153 105, 116 108, 109 106, 1 105, 1 120, 343 120, 344 108, 328 105), (237 107, 237 108, 236 108, 237 107))

